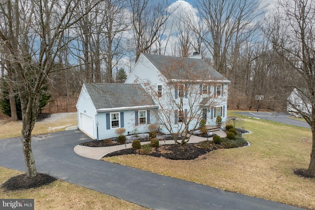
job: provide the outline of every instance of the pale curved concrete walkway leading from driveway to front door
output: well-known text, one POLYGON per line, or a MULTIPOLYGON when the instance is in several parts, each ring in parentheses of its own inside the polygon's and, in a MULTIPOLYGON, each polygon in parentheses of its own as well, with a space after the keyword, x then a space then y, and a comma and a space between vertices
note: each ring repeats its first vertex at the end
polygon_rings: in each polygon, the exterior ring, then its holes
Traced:
MULTIPOLYGON (((221 137, 225 137, 226 134, 222 130, 218 131, 213 131, 212 133, 217 134, 221 137)), ((199 137, 199 136, 194 136, 192 135, 189 139, 189 143, 198 143, 207 140, 207 138, 199 137)), ((209 141, 212 141, 212 138, 209 138, 209 141)), ((150 142, 141 142, 141 145, 148 144, 150 142)), ((160 141, 160 145, 166 144, 174 144, 174 140, 168 140, 168 141, 160 141)), ((74 152, 77 153, 78 155, 81 155, 83 157, 99 160, 103 156, 105 156, 108 153, 118 151, 118 150, 124 150, 124 149, 129 149, 131 148, 131 143, 126 144, 126 145, 117 145, 117 146, 112 146, 112 147, 85 147, 81 145, 77 145, 74 147, 74 152)))

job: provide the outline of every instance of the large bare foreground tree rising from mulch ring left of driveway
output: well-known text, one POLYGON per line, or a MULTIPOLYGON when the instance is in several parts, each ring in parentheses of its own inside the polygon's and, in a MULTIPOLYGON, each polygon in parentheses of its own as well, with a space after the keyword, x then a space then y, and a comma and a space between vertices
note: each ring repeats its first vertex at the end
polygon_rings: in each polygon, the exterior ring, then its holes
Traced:
MULTIPOLYGON (((12 65, 22 108, 22 144, 27 176, 35 177, 32 154, 32 129, 38 112, 40 92, 49 73, 55 68, 59 52, 63 50, 63 34, 89 13, 76 13, 79 1, 7 0, 1 13, 10 17, 6 34, 0 29, 0 51, 12 65), (10 13, 10 14, 9 14, 10 13)), ((97 2, 91 5, 95 6, 97 2)))

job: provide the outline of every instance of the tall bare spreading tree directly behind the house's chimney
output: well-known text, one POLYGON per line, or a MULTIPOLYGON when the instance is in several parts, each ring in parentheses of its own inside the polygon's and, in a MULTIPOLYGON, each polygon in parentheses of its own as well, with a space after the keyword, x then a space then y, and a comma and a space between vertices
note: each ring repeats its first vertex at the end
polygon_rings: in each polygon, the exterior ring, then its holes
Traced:
MULTIPOLYGON (((254 28, 253 20, 261 14, 261 0, 198 0, 201 21, 205 21, 209 33, 202 37, 214 61, 214 68, 227 72, 228 53, 237 53, 246 36, 254 28), (234 44, 234 47, 233 47, 234 44)), ((195 32, 200 33, 196 28, 195 32)), ((237 55, 236 55, 237 56, 237 55)))

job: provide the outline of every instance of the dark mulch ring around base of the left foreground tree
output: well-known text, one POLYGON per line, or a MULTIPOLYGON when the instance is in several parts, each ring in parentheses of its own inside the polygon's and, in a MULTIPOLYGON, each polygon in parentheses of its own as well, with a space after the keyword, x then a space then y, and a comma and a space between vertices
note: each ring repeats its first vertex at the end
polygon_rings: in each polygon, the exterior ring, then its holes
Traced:
POLYGON ((37 173, 36 177, 34 178, 28 178, 26 174, 21 174, 10 178, 4 182, 1 187, 6 190, 30 189, 50 184, 56 180, 56 178, 53 178, 47 174, 37 173))

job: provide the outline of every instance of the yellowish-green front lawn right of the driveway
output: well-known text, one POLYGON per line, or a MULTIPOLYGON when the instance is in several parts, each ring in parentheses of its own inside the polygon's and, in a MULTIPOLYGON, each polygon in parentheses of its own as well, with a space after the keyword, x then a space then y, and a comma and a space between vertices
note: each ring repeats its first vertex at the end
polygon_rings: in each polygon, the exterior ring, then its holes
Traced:
MULTIPOLYGON (((241 116, 238 116, 241 117, 241 116)), ((293 174, 308 168, 312 147, 310 129, 268 120, 241 117, 236 127, 251 131, 251 146, 213 150, 194 160, 170 160, 147 155, 103 158, 161 175, 223 190, 315 209, 315 179, 293 174)))

